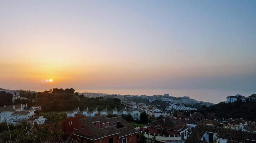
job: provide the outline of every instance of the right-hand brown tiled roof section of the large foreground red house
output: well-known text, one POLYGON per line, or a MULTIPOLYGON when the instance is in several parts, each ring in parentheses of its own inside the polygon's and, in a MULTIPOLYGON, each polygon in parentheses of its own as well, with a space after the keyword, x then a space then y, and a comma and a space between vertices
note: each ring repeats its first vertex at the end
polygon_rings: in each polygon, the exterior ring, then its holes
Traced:
POLYGON ((114 123, 114 122, 120 122, 124 127, 122 128, 118 128, 117 130, 120 132, 120 134, 118 135, 119 137, 122 136, 127 136, 130 134, 134 134, 136 132, 138 132, 137 130, 135 130, 135 128, 133 128, 123 117, 119 116, 119 117, 113 117, 113 118, 108 118, 110 123, 114 123))

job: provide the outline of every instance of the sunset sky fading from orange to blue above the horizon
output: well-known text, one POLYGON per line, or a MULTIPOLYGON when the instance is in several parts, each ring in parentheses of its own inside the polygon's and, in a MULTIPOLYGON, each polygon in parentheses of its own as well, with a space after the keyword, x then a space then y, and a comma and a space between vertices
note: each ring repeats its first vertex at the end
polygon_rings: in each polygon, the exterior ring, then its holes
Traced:
POLYGON ((4 89, 256 92, 255 45, 254 0, 0 0, 4 89))

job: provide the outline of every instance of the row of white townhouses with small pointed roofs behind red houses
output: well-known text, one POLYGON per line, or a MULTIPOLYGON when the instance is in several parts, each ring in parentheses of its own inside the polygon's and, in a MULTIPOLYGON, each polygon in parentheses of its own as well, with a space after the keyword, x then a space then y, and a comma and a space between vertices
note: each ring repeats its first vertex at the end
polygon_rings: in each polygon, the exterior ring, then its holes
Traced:
POLYGON ((87 117, 93 117, 93 116, 98 116, 98 115, 103 115, 107 116, 109 114, 116 114, 118 116, 121 116, 122 114, 127 115, 130 114, 132 115, 134 120, 140 120, 140 113, 143 111, 138 109, 138 108, 133 108, 132 110, 127 110, 126 107, 123 110, 117 110, 114 108, 113 110, 107 110, 107 107, 103 109, 101 112, 99 112, 98 108, 94 109, 93 111, 89 111, 88 108, 84 109, 83 111, 79 110, 79 107, 73 111, 67 112, 68 117, 74 117, 75 114, 82 114, 87 117))

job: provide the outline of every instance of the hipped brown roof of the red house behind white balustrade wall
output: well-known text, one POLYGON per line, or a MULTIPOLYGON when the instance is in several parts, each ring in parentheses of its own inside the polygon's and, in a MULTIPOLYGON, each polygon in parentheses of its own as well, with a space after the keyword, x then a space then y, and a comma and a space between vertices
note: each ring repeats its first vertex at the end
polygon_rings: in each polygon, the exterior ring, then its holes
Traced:
POLYGON ((154 126, 154 125, 160 125, 160 126, 162 126, 162 127, 164 127, 164 126, 173 127, 173 128, 175 128, 176 130, 180 130, 181 128, 184 128, 183 126, 185 125, 185 123, 180 122, 180 121, 177 121, 177 120, 175 120, 175 119, 170 118, 169 116, 167 116, 167 117, 165 117, 165 118, 162 118, 162 119, 159 119, 159 120, 157 120, 157 121, 155 121, 155 122, 150 123, 149 126, 151 126, 151 127, 156 127, 156 126, 154 126), (163 124, 163 119, 165 119, 165 124, 163 124), (180 125, 180 126, 175 127, 175 126, 177 126, 177 125, 180 125))

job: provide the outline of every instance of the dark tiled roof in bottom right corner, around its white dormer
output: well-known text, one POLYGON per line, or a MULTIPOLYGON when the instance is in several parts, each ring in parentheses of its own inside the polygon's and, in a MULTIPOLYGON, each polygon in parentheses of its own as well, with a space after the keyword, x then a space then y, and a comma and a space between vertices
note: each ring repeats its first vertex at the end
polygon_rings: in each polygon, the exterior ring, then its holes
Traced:
POLYGON ((246 139, 256 142, 255 133, 208 125, 197 125, 196 128, 192 131, 191 135, 187 138, 185 143, 206 143, 205 141, 201 140, 206 132, 218 134, 220 138, 228 140, 227 143, 231 141, 248 143, 248 140, 246 139))

